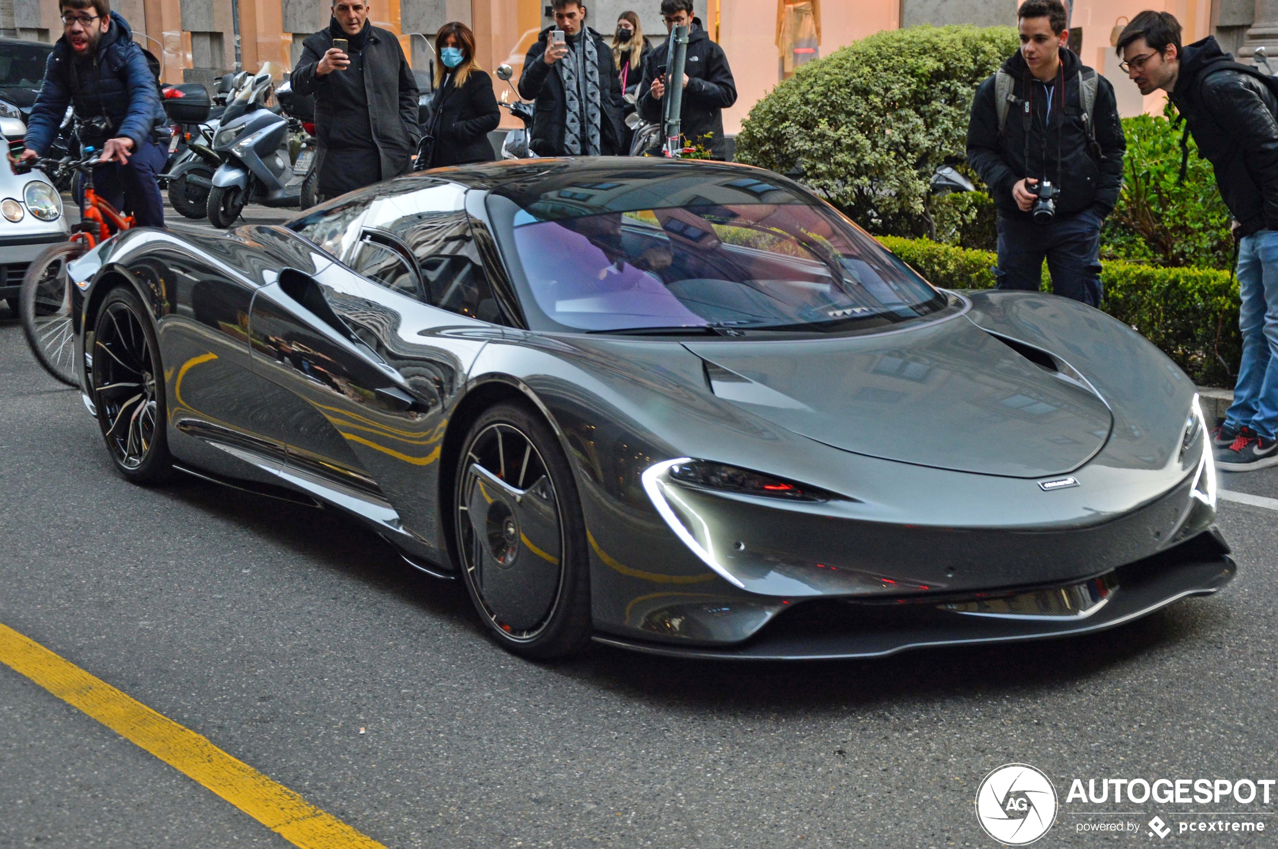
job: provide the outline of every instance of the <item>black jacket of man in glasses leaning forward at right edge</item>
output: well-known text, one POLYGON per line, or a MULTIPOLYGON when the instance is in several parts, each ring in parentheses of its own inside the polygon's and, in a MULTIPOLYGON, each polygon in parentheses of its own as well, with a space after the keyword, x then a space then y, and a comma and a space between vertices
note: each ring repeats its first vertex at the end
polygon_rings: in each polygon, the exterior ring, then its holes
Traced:
POLYGON ((1278 230, 1278 100, 1208 36, 1181 51, 1172 102, 1212 163, 1238 235, 1278 230))

